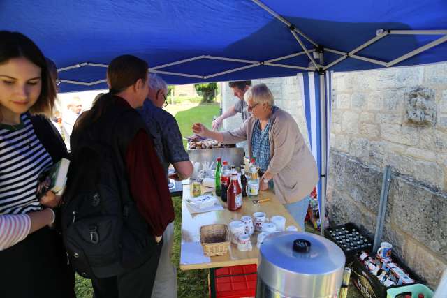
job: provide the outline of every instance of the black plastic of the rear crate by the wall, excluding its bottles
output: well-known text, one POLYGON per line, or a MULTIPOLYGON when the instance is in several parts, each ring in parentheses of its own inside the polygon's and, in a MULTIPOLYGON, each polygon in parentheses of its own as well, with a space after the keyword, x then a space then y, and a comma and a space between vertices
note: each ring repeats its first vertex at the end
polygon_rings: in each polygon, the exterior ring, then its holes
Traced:
MULTIPOLYGON (((372 250, 372 240, 367 237, 366 233, 363 232, 362 230, 360 230, 357 225, 355 225, 354 223, 346 223, 344 225, 337 225, 335 227, 330 227, 324 230, 324 234, 325 237, 327 239, 330 239, 330 241, 334 242, 335 244, 337 244, 340 248, 342 248, 342 251, 344 252, 344 255, 346 256, 346 264, 349 264, 350 262, 352 262, 354 260, 354 256, 359 252, 359 251, 371 251, 372 250), (340 237, 339 239, 336 239, 336 237, 332 236, 332 232, 335 232, 335 230, 340 231, 344 231, 344 230, 348 230, 349 232, 352 232, 352 230, 356 230, 356 232, 358 232, 358 238, 360 240, 360 236, 362 236, 362 239, 366 239, 366 243, 362 242, 362 244, 360 244, 360 247, 358 248, 354 248, 355 246, 350 246, 349 244, 346 244, 346 246, 344 246, 344 243, 342 242, 342 238, 340 237), (364 246, 362 246, 364 245, 364 246)), ((346 232, 345 232, 346 235, 346 232)), ((346 241, 345 241, 346 242, 346 241)), ((358 241, 356 241, 358 242, 358 241)), ((352 243, 351 241, 349 241, 349 243, 352 243)))

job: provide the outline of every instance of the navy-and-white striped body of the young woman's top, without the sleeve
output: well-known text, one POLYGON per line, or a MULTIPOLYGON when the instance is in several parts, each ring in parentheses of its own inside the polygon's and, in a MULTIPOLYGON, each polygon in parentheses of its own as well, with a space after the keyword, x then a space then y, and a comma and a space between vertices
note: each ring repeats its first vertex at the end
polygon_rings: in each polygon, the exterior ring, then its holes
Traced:
POLYGON ((17 126, 0 124, 0 215, 41 210, 38 176, 52 165, 28 114, 21 120, 17 126))

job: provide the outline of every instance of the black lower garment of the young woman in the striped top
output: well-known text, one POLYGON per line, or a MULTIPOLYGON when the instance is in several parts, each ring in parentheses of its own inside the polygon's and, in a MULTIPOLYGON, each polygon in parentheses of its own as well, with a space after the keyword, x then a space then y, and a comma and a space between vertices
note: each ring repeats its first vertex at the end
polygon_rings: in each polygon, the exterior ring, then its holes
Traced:
POLYGON ((45 227, 0 251, 1 298, 75 297, 75 273, 62 238, 45 227))

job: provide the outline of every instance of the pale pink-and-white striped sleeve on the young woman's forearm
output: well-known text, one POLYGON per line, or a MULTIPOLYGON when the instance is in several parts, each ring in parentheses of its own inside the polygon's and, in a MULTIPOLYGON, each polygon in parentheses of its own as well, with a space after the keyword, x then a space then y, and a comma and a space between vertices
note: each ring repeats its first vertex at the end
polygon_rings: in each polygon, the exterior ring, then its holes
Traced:
POLYGON ((31 229, 27 214, 0 215, 0 251, 25 239, 31 229))

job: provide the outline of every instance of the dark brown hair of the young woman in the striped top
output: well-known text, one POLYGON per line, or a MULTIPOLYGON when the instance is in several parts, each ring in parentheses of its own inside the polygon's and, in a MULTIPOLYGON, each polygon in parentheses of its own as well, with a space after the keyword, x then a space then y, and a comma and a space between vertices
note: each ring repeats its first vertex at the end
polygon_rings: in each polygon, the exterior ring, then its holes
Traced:
POLYGON ((54 107, 57 91, 43 53, 31 39, 22 33, 0 31, 0 40, 0 64, 6 64, 13 58, 23 57, 41 68, 41 94, 36 103, 29 108, 29 112, 31 114, 50 115, 54 107))

